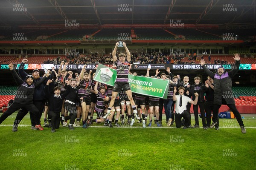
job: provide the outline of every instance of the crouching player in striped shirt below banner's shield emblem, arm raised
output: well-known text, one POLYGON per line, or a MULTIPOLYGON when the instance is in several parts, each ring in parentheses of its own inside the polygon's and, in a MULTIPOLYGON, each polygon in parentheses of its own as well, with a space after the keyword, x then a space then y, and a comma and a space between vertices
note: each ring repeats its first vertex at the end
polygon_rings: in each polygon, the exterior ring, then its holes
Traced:
POLYGON ((106 89, 104 86, 101 86, 99 88, 99 91, 97 90, 98 84, 99 84, 99 82, 96 82, 96 84, 94 86, 94 93, 97 96, 95 111, 96 111, 99 119, 95 119, 95 120, 93 120, 93 122, 105 122, 105 120, 102 118, 102 116, 104 115, 104 110, 106 107, 105 101, 109 101, 109 97, 105 94, 106 89))

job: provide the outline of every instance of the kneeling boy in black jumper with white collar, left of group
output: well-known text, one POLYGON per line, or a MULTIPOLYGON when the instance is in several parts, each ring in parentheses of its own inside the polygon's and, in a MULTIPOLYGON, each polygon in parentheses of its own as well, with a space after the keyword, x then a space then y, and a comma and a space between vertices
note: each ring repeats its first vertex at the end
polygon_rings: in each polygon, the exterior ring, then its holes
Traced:
POLYGON ((58 124, 60 124, 60 113, 62 108, 62 103, 67 96, 67 94, 70 92, 69 89, 65 91, 64 94, 61 94, 61 88, 56 86, 53 91, 54 94, 51 94, 49 91, 49 84, 52 82, 52 80, 48 80, 46 83, 46 86, 44 87, 44 93, 46 94, 48 100, 49 100, 49 116, 52 117, 52 132, 55 132, 55 128, 58 124))

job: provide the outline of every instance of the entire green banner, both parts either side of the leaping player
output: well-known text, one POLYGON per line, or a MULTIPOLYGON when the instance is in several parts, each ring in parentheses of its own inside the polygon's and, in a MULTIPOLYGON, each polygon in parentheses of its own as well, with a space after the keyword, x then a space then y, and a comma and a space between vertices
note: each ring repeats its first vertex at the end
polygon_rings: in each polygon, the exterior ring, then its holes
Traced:
MULTIPOLYGON (((132 92, 144 94, 146 96, 160 97, 163 99, 167 98, 169 80, 134 76, 131 74, 128 74, 128 78, 132 92)), ((116 70, 99 64, 94 76, 94 80, 114 86, 116 81, 116 70)))

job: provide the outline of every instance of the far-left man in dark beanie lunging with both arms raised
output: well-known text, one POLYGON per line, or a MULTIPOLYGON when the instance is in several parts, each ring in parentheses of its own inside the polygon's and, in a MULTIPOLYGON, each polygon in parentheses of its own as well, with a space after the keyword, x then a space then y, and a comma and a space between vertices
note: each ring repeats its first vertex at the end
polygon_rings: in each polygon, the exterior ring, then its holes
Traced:
MULTIPOLYGON (((23 108, 35 114, 35 117, 36 117, 35 127, 38 128, 39 130, 44 130, 43 127, 41 127, 40 125, 40 121, 39 121, 40 118, 38 117, 39 116, 38 108, 36 108, 35 105, 33 104, 33 96, 34 96, 35 87, 40 86, 47 79, 47 77, 49 77, 49 73, 47 73, 46 77, 42 78, 38 82, 34 81, 35 79, 32 75, 27 75, 25 81, 23 81, 18 76, 16 71, 13 69, 13 64, 9 64, 9 69, 11 70, 12 76, 15 79, 17 85, 19 85, 19 88, 16 92, 16 96, 13 101, 13 104, 0 117, 0 124, 12 113, 23 108)), ((14 121, 14 125, 12 127, 13 132, 16 132, 18 130, 17 129, 18 124, 20 123, 20 121, 24 116, 25 115, 23 114, 20 114, 19 116, 17 115, 14 121)))

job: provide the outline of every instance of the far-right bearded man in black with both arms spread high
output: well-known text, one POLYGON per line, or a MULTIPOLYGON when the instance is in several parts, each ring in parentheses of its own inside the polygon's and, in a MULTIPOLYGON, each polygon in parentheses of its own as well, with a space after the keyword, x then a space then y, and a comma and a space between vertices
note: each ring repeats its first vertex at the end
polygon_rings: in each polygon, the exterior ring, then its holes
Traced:
POLYGON ((209 71, 209 69, 204 65, 204 59, 201 59, 201 66, 204 69, 204 71, 208 74, 209 77, 211 77, 214 80, 214 101, 213 101, 213 116, 212 116, 212 125, 210 128, 217 127, 217 117, 218 117, 218 110, 221 107, 222 104, 227 105, 231 111, 233 111, 234 115, 236 116, 236 120, 239 123, 241 127, 241 132, 246 133, 246 129, 244 127, 244 122, 242 121, 241 115, 239 111, 236 108, 234 96, 232 93, 232 77, 235 76, 235 74, 239 70, 240 65, 240 57, 239 54, 235 54, 235 65, 234 68, 226 72, 223 67, 218 67, 216 70, 216 74, 209 71))

